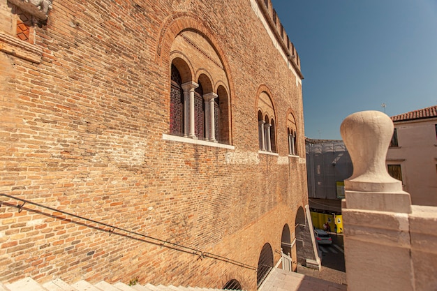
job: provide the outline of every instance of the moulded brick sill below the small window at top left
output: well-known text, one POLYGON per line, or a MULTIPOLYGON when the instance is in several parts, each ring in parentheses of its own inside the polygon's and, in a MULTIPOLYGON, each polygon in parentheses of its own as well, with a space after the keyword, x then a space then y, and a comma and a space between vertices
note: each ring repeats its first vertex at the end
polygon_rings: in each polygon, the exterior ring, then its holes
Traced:
POLYGON ((2 32, 0 32, 0 51, 36 64, 40 64, 43 54, 42 48, 2 32))

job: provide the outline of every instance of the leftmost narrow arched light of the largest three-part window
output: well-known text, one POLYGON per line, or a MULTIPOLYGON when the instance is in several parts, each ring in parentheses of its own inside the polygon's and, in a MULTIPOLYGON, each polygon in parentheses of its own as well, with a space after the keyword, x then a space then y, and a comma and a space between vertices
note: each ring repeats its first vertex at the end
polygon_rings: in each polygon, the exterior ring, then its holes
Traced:
POLYGON ((184 92, 179 70, 172 64, 172 86, 170 89, 170 134, 184 135, 184 92))

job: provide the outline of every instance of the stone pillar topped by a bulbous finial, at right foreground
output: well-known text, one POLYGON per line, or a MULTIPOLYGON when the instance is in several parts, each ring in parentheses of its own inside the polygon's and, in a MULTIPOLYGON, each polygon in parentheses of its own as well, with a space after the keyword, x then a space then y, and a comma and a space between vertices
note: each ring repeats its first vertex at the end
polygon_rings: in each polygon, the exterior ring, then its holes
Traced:
POLYGON ((351 114, 341 136, 353 162, 342 202, 349 291, 413 291, 410 195, 385 168, 393 123, 379 111, 351 114))

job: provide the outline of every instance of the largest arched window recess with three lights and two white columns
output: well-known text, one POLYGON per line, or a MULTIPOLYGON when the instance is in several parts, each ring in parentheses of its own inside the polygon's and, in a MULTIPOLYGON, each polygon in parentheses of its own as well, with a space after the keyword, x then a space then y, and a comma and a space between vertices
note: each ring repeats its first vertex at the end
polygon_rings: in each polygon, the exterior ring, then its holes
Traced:
POLYGON ((230 142, 229 84, 216 52, 209 40, 195 30, 184 30, 173 41, 170 52, 170 57, 173 57, 171 135, 209 142, 230 142), (209 47, 209 57, 199 56, 198 47, 209 47))

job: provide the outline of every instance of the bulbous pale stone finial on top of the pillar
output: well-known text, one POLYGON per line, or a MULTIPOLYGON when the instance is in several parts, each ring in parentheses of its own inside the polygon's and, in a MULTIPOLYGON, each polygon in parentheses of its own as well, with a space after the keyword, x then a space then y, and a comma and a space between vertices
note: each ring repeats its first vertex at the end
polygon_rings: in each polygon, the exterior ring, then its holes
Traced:
POLYGON ((341 137, 353 163, 346 190, 402 192, 401 181, 390 177, 385 168, 393 128, 390 117, 379 111, 356 112, 343 120, 341 137))

